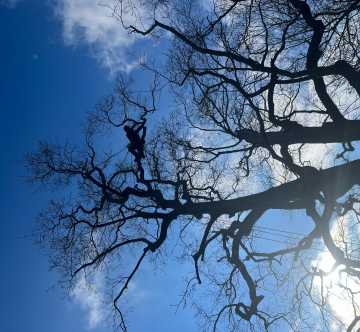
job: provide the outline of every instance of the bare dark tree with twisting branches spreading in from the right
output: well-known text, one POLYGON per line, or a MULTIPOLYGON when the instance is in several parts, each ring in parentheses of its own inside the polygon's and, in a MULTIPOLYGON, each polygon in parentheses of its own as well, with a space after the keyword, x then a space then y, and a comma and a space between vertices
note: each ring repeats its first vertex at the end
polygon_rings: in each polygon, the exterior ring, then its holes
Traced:
POLYGON ((165 64, 142 63, 148 92, 119 79, 82 152, 42 144, 29 155, 34 180, 67 185, 41 215, 64 280, 111 267, 126 330, 120 298, 178 238, 194 262, 184 301, 213 330, 359 328, 360 1, 127 0, 114 15, 170 45, 165 64), (164 94, 172 112, 160 121, 164 94), (104 128, 119 131, 116 152, 95 147, 104 128), (274 210, 296 212, 303 232, 274 210), (348 301, 346 317, 334 301, 348 301))

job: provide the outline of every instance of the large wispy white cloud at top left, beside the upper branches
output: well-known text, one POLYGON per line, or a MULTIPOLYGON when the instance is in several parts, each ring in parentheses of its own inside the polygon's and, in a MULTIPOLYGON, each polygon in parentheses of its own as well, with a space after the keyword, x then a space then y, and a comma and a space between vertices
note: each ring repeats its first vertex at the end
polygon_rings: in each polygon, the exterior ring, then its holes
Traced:
MULTIPOLYGON (((128 72, 137 65, 137 59, 127 56, 135 36, 129 35, 113 15, 114 1, 59 0, 56 12, 68 45, 88 45, 99 62, 112 72, 128 72)), ((125 19, 130 16, 125 14, 125 19)))

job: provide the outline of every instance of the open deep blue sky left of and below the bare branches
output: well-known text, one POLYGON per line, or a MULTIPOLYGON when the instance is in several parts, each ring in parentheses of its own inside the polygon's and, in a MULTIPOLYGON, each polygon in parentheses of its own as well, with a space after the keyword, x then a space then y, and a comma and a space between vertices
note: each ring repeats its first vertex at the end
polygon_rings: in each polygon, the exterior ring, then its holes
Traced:
MULTIPOLYGON (((57 275, 33 245, 36 215, 49 194, 26 182, 23 159, 39 140, 82 138, 86 113, 112 89, 111 72, 119 66, 129 69, 123 50, 131 42, 123 34, 111 42, 107 34, 113 34, 115 25, 97 31, 96 18, 95 28, 87 29, 90 21, 84 13, 94 9, 91 1, 74 1, 78 8, 66 0, 56 9, 51 3, 0 1, 0 330, 111 331, 104 322, 91 328, 89 298, 64 298, 56 287, 57 275)), ((175 316, 170 306, 178 300, 182 280, 178 270, 171 270, 139 279, 141 296, 133 299, 138 309, 136 315, 130 313, 130 319, 136 318, 132 331, 144 331, 149 324, 153 331, 175 331, 174 326, 179 331, 197 330, 189 312, 175 316)))

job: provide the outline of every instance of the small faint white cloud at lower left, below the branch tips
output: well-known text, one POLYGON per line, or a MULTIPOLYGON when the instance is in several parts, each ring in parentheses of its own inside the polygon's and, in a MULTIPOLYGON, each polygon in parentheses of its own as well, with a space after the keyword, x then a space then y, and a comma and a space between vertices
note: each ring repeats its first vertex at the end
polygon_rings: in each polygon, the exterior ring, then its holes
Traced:
POLYGON ((89 328, 99 326, 105 319, 103 276, 97 274, 91 283, 82 276, 71 292, 71 297, 87 314, 89 328))

